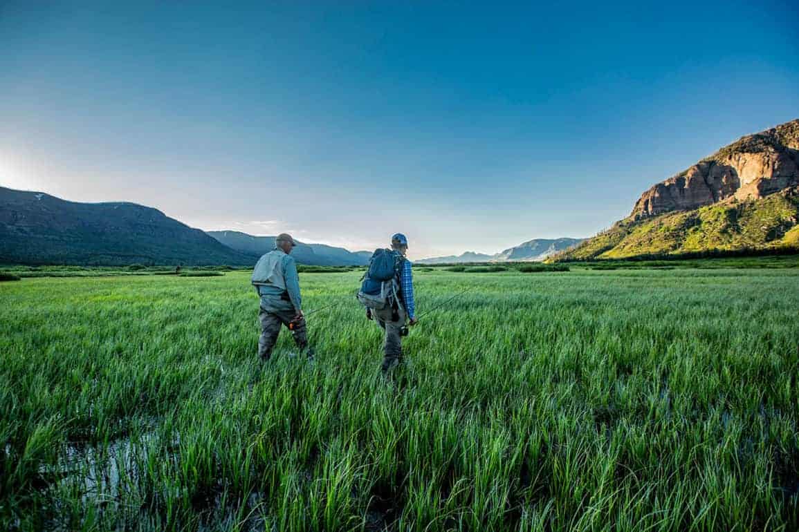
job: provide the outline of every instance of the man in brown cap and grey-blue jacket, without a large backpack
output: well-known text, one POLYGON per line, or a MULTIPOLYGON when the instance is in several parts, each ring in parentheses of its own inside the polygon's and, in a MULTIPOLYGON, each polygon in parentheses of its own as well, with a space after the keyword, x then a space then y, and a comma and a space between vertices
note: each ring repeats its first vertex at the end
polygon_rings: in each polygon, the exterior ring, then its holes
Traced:
POLYGON ((308 333, 302 313, 300 278, 296 262, 290 255, 294 246, 296 243, 290 234, 278 234, 275 249, 258 259, 252 270, 252 285, 260 296, 258 356, 263 361, 272 357, 272 348, 282 325, 292 331, 300 352, 313 358, 312 349, 308 349, 308 333))

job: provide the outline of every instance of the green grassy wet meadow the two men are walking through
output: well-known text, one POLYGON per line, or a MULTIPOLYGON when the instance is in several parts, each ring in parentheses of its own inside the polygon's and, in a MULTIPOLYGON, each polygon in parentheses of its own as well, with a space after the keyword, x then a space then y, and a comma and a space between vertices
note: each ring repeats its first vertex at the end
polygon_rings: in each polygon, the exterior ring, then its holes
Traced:
POLYGON ((248 275, 0 282, 0 530, 799 528, 799 268, 419 269, 390 379, 360 271, 266 364, 248 275))

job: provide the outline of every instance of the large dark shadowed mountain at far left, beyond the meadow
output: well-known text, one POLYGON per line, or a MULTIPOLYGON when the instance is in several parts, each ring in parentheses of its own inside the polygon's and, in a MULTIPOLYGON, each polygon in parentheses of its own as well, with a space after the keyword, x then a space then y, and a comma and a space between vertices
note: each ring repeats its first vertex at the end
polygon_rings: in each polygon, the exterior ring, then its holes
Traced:
POLYGON ((136 203, 75 203, 0 187, 0 263, 252 265, 255 258, 136 203))

